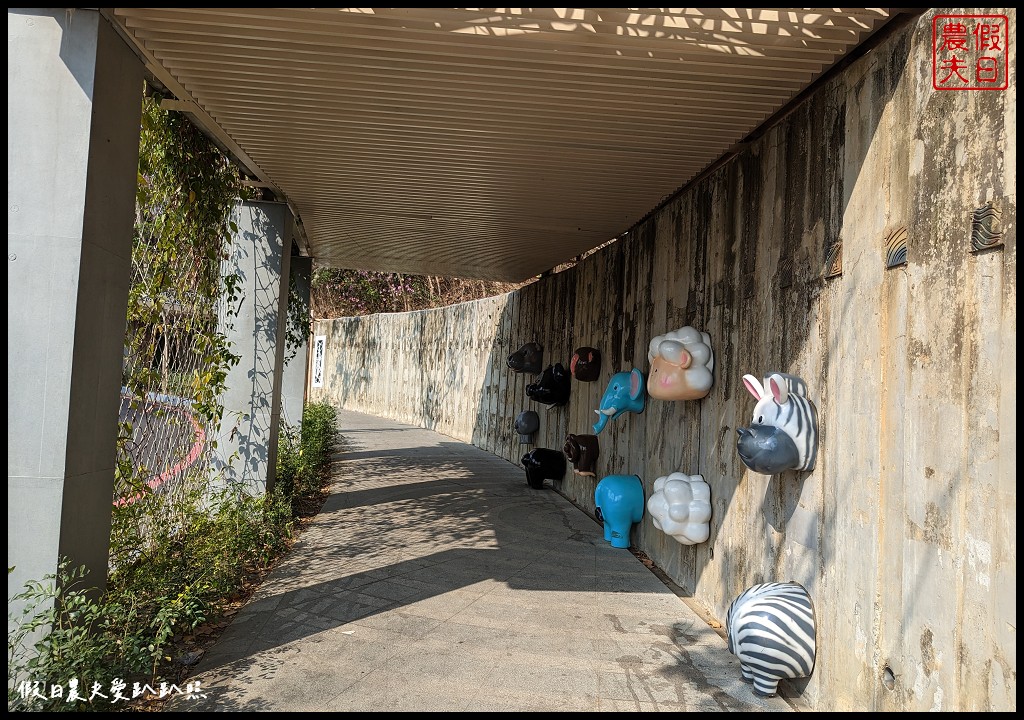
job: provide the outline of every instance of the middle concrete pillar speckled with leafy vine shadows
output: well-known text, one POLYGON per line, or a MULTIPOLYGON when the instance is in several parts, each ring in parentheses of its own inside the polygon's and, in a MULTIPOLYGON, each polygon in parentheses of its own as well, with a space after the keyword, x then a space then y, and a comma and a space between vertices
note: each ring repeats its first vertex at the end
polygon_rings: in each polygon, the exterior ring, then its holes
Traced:
POLYGON ((281 420, 292 215, 284 203, 243 202, 225 273, 239 278, 238 313, 222 320, 241 362, 227 374, 217 440, 228 481, 252 493, 273 489, 281 420))

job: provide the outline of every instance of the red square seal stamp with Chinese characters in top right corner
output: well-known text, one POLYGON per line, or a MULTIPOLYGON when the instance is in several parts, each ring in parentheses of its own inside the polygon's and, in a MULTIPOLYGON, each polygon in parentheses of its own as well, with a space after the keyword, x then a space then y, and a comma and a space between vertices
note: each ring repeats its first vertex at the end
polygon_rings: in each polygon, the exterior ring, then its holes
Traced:
POLYGON ((1006 15, 935 15, 932 87, 1006 90, 1010 85, 1010 19, 1006 15))

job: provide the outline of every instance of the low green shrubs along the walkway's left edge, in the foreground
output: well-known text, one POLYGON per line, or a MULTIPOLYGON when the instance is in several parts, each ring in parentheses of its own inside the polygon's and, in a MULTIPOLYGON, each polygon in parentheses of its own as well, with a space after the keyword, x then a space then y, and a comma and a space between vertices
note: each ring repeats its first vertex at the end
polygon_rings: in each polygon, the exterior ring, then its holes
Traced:
MULTIPOLYGON (((175 638, 220 616, 246 578, 265 569, 288 547, 291 508, 280 495, 222 491, 211 497, 198 478, 174 495, 148 493, 114 515, 111 573, 102 594, 86 586, 84 567, 26 585, 24 603, 8 617, 8 710, 104 709, 111 697, 68 703, 23 697, 22 682, 86 693, 99 682, 157 686, 173 676, 175 638), (140 532, 139 528, 144 528, 140 532)), ((10 605, 10 602, 8 602, 10 605)), ((130 693, 129 693, 130 696, 130 693)))

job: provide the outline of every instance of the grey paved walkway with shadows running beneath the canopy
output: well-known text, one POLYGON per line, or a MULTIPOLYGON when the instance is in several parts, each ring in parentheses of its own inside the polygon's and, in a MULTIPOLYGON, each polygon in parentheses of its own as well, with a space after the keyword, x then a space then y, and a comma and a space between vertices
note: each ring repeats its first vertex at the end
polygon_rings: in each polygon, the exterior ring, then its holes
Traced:
POLYGON ((715 630, 521 468, 339 421, 323 511, 200 662, 206 700, 173 710, 795 712, 757 697, 715 630))

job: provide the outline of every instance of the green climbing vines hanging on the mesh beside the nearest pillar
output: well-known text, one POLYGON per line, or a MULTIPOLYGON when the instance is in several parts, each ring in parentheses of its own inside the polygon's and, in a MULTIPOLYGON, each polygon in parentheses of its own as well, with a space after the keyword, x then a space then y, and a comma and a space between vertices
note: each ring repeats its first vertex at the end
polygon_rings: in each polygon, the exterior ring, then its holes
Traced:
POLYGON ((239 302, 239 279, 222 278, 221 263, 237 230, 231 208, 245 188, 217 146, 160 100, 142 103, 123 384, 135 396, 188 397, 214 424, 227 371, 239 361, 218 310, 229 321, 239 302))

